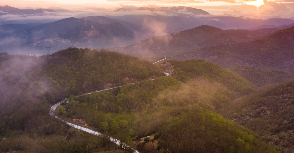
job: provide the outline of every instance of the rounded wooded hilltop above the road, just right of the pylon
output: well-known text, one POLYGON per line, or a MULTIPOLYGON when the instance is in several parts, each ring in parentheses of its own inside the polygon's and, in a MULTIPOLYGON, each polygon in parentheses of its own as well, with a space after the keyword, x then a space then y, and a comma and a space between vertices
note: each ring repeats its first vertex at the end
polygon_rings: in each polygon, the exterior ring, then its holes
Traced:
POLYGON ((77 94, 122 85, 125 78, 137 81, 164 76, 151 62, 117 52, 68 48, 46 58, 44 72, 57 81, 62 91, 77 94))

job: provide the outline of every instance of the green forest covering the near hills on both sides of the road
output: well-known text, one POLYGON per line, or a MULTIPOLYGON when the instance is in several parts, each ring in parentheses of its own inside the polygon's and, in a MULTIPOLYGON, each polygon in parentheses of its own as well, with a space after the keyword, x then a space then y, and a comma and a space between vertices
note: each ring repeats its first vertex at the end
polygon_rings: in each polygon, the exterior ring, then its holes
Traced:
POLYGON ((259 131, 232 121, 238 116, 233 104, 259 92, 253 83, 204 60, 166 62, 174 73, 165 77, 152 62, 109 50, 70 47, 41 57, 1 53, 0 152, 132 152, 107 136, 143 153, 152 145, 161 153, 164 148, 171 153, 280 151, 259 131), (120 87, 78 96, 115 86, 120 87), (59 118, 82 120, 105 137, 49 115, 62 100, 55 112, 59 118))

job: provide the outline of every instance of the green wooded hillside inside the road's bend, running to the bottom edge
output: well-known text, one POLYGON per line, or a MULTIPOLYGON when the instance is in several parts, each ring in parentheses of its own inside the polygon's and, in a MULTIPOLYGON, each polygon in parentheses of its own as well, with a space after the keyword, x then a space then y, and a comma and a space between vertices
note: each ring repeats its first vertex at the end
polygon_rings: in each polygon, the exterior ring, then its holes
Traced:
MULTIPOLYGON (((56 113, 69 120, 83 119, 89 127, 96 127, 129 145, 134 141, 140 152, 152 148, 150 146, 160 152, 166 151, 163 148, 170 148, 170 152, 276 152, 249 130, 211 111, 215 110, 213 104, 217 101, 234 98, 233 91, 223 86, 225 78, 214 78, 213 70, 226 71, 224 77, 235 75, 230 79, 241 86, 250 83, 215 64, 201 60, 187 62, 195 63, 194 68, 202 67, 198 72, 203 73, 192 74, 193 79, 185 81, 186 84, 171 76, 158 77, 111 91, 70 96, 66 99, 68 102, 58 106, 56 113), (238 80, 240 78, 243 82, 238 80), (156 138, 138 143, 142 137, 153 134, 156 138)), ((252 90, 250 86, 249 89, 252 90)))

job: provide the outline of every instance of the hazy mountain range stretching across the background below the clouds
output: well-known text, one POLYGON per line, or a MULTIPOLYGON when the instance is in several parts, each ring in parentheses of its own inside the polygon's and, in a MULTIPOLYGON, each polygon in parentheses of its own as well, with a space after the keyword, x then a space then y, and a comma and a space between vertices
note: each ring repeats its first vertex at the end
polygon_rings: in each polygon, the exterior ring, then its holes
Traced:
MULTIPOLYGON (((60 10, 52 9, 17 9, 10 6, 1 6, 0 10, 4 14, 26 14, 28 16, 42 16, 46 12, 53 14, 60 12, 60 10)), ((114 10, 111 14, 87 16, 80 19, 65 18, 49 23, 34 22, 1 25, 0 47, 2 51, 9 52, 21 50, 21 48, 38 51, 44 50, 44 47, 48 46, 51 46, 52 50, 55 51, 67 47, 116 47, 116 50, 123 52, 134 53, 143 50, 144 52, 155 54, 156 52, 166 52, 166 50, 174 52, 198 47, 253 41, 270 34, 273 30, 288 28, 294 23, 291 19, 282 18, 262 20, 214 16, 201 9, 184 6, 130 7, 114 10), (117 13, 122 15, 115 15, 117 13), (201 29, 199 28, 201 25, 215 28, 201 29), (250 27, 260 32, 222 30, 250 27), (274 29, 260 29, 263 27, 274 29)), ((0 19, 1 22, 2 20, 0 19)), ((158 55, 163 56, 162 54, 158 55)))

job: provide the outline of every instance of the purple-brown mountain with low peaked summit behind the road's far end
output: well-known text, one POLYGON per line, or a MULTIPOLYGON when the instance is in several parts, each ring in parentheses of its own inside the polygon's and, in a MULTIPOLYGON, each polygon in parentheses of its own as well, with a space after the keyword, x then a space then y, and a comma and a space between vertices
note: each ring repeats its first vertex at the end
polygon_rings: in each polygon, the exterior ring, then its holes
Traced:
POLYGON ((113 50, 140 56, 171 56, 181 50, 252 41, 265 34, 249 30, 222 30, 212 26, 199 26, 113 50))

